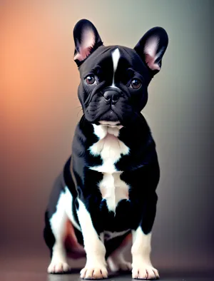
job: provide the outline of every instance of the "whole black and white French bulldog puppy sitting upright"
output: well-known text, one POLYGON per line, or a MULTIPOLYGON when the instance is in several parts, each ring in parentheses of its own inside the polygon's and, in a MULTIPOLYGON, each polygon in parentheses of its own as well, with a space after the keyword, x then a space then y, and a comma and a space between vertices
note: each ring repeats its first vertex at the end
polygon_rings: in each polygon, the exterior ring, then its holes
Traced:
POLYGON ((156 279, 150 253, 160 171, 141 111, 168 35, 155 27, 133 49, 103 46, 95 26, 83 19, 73 37, 83 116, 46 210, 48 272, 67 272, 67 257, 86 256, 83 279, 108 277, 107 265, 132 270, 136 279, 156 279), (131 238, 132 264, 123 258, 131 238))

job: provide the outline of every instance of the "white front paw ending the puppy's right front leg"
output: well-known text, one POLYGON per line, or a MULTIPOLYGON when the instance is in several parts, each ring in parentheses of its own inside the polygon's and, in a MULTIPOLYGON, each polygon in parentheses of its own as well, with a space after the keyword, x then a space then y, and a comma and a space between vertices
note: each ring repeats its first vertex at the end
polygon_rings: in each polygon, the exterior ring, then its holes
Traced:
POLYGON ((160 278, 158 270, 152 265, 133 265, 132 270, 133 279, 143 279, 143 280, 157 280, 160 278))

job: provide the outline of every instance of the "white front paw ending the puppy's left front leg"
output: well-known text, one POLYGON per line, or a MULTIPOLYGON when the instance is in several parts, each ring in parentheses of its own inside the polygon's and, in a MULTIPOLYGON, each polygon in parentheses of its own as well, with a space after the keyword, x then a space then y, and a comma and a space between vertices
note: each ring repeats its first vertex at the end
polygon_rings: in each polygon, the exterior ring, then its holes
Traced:
POLYGON ((81 270, 81 278, 82 279, 105 279, 108 278, 108 272, 106 270, 106 266, 104 265, 96 265, 94 267, 84 267, 81 270))

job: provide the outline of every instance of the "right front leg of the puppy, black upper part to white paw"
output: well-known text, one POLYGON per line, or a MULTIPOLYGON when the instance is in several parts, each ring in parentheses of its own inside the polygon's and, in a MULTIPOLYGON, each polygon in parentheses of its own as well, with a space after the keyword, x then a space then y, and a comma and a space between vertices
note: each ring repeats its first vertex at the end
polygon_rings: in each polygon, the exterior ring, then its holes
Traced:
POLYGON ((158 270, 151 263, 151 230, 156 216, 157 195, 153 193, 143 203, 141 223, 132 231, 132 277, 134 279, 153 280, 158 279, 158 270))

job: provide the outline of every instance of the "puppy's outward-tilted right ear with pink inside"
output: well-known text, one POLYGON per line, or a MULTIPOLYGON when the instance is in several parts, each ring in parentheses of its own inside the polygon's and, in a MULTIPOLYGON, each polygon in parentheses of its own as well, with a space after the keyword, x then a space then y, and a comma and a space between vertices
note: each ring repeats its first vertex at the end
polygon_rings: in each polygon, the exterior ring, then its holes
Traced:
POLYGON ((146 32, 134 49, 155 75, 161 70, 162 58, 167 46, 168 35, 165 29, 154 27, 146 32))

